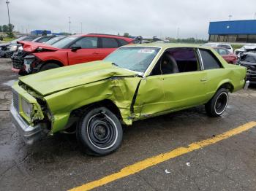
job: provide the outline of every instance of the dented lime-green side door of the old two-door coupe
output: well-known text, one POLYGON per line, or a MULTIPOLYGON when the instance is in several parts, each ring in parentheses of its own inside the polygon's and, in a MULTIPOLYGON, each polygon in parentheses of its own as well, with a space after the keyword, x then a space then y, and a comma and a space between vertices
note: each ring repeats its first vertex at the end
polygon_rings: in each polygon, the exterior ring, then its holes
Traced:
MULTIPOLYGON (((187 51, 178 52, 178 56, 182 57, 182 53, 187 54, 187 51)), ((203 104, 206 101, 207 76, 206 71, 201 69, 198 58, 195 52, 193 63, 190 62, 194 66, 188 67, 191 71, 182 69, 175 74, 153 74, 153 76, 143 79, 140 82, 138 98, 135 102, 135 106, 139 108, 136 112, 140 112, 142 117, 147 117, 152 114, 203 104)), ((184 57, 184 59, 188 58, 184 57)), ((159 58, 158 63, 160 61, 161 58, 159 58)), ((157 64, 155 68, 158 67, 157 64)), ((179 66, 178 68, 181 69, 182 67, 179 66)))

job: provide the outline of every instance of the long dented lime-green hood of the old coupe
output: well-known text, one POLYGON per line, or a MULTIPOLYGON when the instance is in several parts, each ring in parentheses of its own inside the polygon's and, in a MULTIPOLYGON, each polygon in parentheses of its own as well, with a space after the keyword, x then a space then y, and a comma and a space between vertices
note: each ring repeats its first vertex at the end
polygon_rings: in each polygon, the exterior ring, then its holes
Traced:
POLYGON ((132 77, 137 74, 135 71, 113 66, 111 62, 94 61, 50 69, 19 79, 33 90, 36 90, 37 93, 50 95, 70 87, 85 85, 110 77, 132 77))

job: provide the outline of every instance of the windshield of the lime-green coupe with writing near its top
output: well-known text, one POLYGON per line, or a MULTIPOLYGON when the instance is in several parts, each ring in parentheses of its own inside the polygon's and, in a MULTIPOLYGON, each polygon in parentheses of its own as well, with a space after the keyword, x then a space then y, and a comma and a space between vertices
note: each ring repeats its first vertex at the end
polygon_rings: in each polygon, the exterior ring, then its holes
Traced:
POLYGON ((145 72, 159 50, 158 47, 121 47, 104 61, 110 61, 123 69, 145 72))

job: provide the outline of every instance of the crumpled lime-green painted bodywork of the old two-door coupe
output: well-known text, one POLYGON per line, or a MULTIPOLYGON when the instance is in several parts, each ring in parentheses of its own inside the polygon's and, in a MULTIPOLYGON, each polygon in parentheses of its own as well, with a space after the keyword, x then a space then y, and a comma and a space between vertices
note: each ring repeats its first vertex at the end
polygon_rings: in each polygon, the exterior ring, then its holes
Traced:
MULTIPOLYGON (((148 44, 133 46, 155 47, 148 44)), ((222 69, 151 76, 151 70, 162 53, 175 47, 211 50, 195 45, 161 44, 157 56, 143 75, 118 68, 110 62, 95 61, 20 77, 20 82, 12 88, 18 92, 19 98, 26 98, 33 105, 32 115, 36 115, 31 119, 48 120, 51 124, 49 134, 53 134, 67 128, 70 114, 76 109, 100 101, 115 104, 120 120, 132 125, 135 120, 206 104, 222 85, 229 84, 231 92, 244 86, 246 69, 228 65, 214 51, 222 69), (45 103, 44 111, 38 101, 45 103)), ((29 125, 33 125, 34 121, 23 114, 21 107, 18 112, 29 125)))

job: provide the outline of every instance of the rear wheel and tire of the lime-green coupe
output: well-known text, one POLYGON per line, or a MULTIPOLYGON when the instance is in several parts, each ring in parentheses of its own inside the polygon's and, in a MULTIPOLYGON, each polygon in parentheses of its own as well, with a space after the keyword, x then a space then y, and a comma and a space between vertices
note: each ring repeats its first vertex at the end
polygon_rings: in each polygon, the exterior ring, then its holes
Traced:
POLYGON ((227 107, 228 103, 228 90, 221 88, 215 93, 214 97, 205 105, 206 113, 210 117, 218 117, 227 107))

